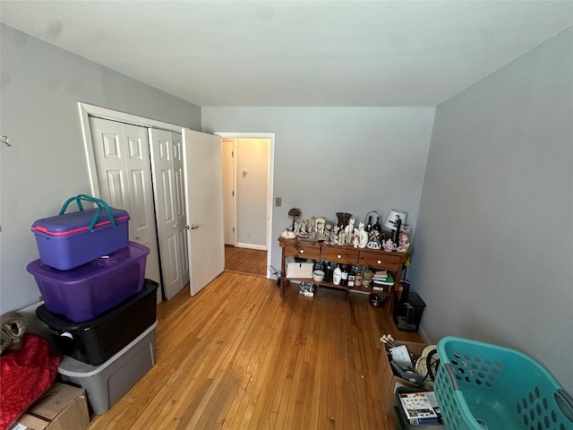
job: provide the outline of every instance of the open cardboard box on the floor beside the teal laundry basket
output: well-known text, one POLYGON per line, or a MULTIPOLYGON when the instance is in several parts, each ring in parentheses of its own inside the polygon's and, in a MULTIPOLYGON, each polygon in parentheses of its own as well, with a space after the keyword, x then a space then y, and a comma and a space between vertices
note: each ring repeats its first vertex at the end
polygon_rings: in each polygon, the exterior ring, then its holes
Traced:
MULTIPOLYGON (((397 345, 406 345, 408 351, 415 355, 415 357, 420 357, 422 355, 423 348, 428 345, 425 343, 415 343, 415 342, 402 342, 396 340, 394 343, 397 345)), ((415 388, 414 383, 410 383, 405 379, 399 378, 392 372, 392 366, 388 356, 386 355, 386 349, 381 350, 380 360, 378 362, 378 384, 381 389, 383 413, 385 417, 393 417, 394 406, 396 404, 396 389, 400 386, 415 388)))

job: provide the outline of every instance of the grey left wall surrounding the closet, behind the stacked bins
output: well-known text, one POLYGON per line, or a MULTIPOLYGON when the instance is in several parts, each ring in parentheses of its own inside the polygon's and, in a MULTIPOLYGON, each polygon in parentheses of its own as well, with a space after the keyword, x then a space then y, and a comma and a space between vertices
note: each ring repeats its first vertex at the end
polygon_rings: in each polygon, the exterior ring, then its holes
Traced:
POLYGON ((30 226, 90 193, 78 101, 201 130, 201 108, 2 25, 0 312, 38 301, 30 226))

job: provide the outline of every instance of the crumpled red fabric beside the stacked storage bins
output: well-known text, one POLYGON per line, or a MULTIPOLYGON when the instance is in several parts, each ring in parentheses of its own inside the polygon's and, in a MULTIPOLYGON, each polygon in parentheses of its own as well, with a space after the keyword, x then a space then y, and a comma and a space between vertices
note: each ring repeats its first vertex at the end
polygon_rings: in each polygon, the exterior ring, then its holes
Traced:
POLYGON ((26 333, 22 348, 0 357, 0 430, 46 391, 56 379, 59 357, 50 357, 46 339, 26 333))

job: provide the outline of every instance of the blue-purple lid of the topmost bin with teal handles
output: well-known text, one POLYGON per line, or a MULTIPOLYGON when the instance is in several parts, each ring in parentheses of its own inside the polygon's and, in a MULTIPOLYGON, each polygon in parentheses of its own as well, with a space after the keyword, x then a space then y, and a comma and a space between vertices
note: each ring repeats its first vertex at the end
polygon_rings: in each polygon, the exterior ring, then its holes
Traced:
MULTIPOLYGON (((129 219, 129 213, 127 213, 127 211, 115 208, 110 209, 116 223, 124 219, 129 219)), ((67 236, 80 233, 90 227, 90 223, 94 219, 96 211, 98 210, 94 208, 38 219, 32 224, 31 230, 50 236, 67 236)), ((107 211, 101 211, 94 229, 109 225, 111 225, 111 220, 107 215, 107 211)))

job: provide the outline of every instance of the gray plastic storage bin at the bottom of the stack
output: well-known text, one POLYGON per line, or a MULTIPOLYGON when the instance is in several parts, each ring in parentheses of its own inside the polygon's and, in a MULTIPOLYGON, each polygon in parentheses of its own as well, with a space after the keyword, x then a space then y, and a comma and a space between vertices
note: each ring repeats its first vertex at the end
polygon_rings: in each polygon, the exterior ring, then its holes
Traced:
POLYGON ((58 366, 58 373, 64 382, 85 389, 90 409, 94 414, 101 415, 155 365, 156 327, 157 322, 99 366, 64 357, 58 366))

